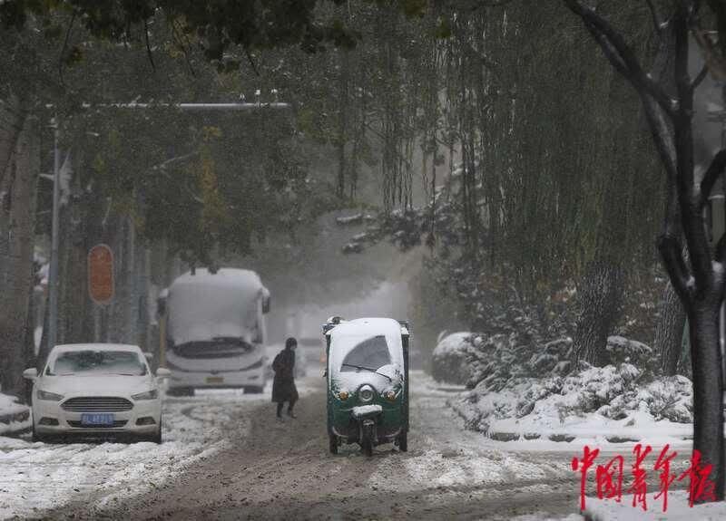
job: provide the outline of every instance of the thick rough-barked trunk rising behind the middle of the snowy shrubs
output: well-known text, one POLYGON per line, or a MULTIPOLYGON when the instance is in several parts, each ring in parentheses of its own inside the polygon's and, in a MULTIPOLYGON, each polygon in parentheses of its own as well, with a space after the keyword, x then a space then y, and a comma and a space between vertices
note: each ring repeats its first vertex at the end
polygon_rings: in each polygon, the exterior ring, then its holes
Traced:
POLYGON ((579 291, 573 368, 580 361, 605 364, 605 344, 621 314, 623 287, 623 270, 618 265, 595 262, 587 270, 579 291))

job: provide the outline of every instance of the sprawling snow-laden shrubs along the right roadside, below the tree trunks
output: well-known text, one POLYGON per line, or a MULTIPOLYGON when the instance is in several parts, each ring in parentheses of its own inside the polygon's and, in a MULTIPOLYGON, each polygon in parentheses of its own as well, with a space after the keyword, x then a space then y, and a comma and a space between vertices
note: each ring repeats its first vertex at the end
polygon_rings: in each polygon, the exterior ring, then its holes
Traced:
MULTIPOLYGON (((609 364, 570 371, 572 341, 544 344, 535 353, 515 335, 470 335, 469 380, 451 405, 471 429, 502 439, 539 436, 567 425, 668 420, 692 422, 692 384, 683 376, 654 378, 651 348, 623 337, 608 339, 609 364)), ((566 431, 566 429, 564 429, 566 431)))

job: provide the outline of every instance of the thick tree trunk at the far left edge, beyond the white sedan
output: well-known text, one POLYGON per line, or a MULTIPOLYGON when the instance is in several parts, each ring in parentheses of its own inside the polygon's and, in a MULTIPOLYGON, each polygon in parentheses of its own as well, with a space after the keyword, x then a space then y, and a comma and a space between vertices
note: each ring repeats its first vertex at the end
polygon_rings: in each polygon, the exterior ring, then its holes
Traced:
POLYGON ((33 286, 35 184, 40 173, 37 120, 27 118, 15 147, 5 280, 0 281, 0 385, 4 392, 24 395, 25 338, 33 286))

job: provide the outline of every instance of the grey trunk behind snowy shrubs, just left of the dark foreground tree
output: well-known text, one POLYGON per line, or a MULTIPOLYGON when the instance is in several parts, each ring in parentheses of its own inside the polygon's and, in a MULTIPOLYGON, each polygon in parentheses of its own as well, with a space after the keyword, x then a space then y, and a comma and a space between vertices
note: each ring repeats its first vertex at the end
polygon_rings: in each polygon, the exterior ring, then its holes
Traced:
POLYGON ((663 290, 659 307, 653 349, 658 354, 662 373, 665 376, 673 376, 678 372, 678 361, 681 360, 683 351, 686 314, 681 299, 678 298, 670 282, 663 290))

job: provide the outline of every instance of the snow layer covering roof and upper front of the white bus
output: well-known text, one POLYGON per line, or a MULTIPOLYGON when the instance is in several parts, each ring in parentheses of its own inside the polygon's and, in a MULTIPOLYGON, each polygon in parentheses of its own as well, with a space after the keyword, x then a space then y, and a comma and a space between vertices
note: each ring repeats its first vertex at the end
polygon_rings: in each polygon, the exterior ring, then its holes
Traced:
POLYGON ((251 343, 260 333, 260 299, 270 292, 260 275, 236 268, 211 274, 206 268, 186 273, 169 287, 169 332, 173 343, 240 338, 251 343))

